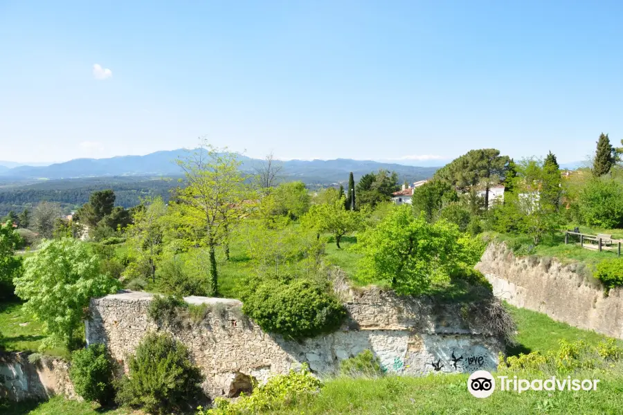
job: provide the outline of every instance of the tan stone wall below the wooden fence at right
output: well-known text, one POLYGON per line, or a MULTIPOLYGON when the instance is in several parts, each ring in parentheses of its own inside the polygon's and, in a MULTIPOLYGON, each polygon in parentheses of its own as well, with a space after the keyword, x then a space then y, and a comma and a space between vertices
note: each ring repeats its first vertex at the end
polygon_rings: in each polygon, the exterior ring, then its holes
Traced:
POLYGON ((556 259, 513 255, 503 243, 490 243, 476 268, 494 295, 514 306, 539 311, 580 329, 623 338, 620 289, 604 295, 599 281, 578 273, 577 264, 556 259))

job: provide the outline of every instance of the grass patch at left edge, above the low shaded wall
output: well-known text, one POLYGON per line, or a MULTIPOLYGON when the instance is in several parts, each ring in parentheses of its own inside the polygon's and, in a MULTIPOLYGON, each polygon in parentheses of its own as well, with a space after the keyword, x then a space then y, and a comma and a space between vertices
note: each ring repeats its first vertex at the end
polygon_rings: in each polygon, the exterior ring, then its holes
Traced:
MULTIPOLYGON (((38 351, 45 336, 43 325, 32 316, 24 313, 21 302, 13 300, 0 303, 0 349, 4 351, 38 351), (25 326, 20 324, 28 323, 25 326)), ((64 349, 45 351, 51 356, 68 357, 64 349)))

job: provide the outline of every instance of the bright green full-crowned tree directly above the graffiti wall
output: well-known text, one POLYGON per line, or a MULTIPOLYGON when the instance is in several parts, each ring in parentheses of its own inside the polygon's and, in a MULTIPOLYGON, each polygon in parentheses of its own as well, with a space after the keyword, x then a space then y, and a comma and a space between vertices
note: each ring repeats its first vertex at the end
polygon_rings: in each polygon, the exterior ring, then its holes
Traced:
POLYGON ((421 294, 449 277, 464 261, 458 226, 444 220, 428 223, 408 205, 392 210, 376 228, 358 235, 363 253, 360 273, 370 282, 388 282, 397 293, 421 294))

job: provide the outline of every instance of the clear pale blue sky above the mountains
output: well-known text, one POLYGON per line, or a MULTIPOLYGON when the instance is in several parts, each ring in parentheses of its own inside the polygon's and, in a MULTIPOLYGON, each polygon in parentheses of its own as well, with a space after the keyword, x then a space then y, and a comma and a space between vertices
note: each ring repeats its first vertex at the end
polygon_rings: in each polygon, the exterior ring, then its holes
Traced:
POLYGON ((0 160, 199 136, 280 158, 583 160, 623 138, 622 21, 620 0, 0 0, 0 160))

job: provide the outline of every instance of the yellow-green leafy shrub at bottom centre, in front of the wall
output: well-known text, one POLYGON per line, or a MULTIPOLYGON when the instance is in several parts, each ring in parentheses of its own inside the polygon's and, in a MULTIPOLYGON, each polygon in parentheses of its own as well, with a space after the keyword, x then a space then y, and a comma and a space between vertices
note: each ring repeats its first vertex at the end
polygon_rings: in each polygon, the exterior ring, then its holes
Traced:
POLYGON ((199 407, 196 415, 237 415, 270 413, 280 407, 294 407, 301 399, 318 393, 322 382, 311 374, 307 365, 287 375, 273 376, 265 385, 257 387, 253 394, 242 395, 235 402, 216 398, 215 408, 204 411, 199 407))

